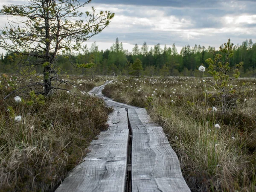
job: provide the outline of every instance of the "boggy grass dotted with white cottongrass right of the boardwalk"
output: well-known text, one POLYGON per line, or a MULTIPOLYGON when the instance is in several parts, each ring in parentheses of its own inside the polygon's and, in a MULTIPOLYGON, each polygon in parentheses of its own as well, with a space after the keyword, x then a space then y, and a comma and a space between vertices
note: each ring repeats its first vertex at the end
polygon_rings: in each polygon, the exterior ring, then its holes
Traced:
POLYGON ((204 85, 208 93, 218 94, 212 79, 204 81, 119 77, 102 92, 118 102, 146 108, 151 119, 162 125, 192 192, 256 191, 256 79, 230 82, 228 86, 235 87, 251 84, 237 89, 235 103, 226 113, 219 102, 204 97, 204 85))

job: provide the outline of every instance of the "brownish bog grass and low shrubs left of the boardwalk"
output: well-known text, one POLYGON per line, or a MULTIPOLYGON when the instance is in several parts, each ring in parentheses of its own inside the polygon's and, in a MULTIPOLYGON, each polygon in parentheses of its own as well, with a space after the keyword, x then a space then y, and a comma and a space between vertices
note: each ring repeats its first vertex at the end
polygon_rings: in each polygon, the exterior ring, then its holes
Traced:
MULTIPOLYGON (((32 90, 0 101, 0 191, 54 191, 83 161, 89 143, 108 128, 111 108, 86 93, 104 79, 72 82, 82 91, 69 86, 64 87, 68 92, 44 97, 32 90)), ((2 74, 0 97, 16 84, 19 77, 2 74)))

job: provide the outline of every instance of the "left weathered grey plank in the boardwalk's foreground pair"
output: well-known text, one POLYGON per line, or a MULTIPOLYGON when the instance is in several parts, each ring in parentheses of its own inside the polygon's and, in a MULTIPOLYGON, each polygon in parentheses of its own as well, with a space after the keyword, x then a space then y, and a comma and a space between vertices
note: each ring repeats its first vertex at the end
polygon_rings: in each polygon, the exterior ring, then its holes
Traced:
POLYGON ((84 162, 77 166, 56 192, 122 192, 125 190, 128 119, 123 108, 109 116, 108 131, 93 140, 84 162))

